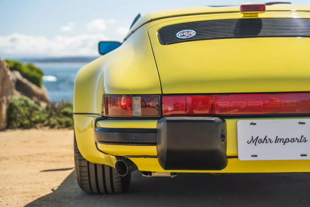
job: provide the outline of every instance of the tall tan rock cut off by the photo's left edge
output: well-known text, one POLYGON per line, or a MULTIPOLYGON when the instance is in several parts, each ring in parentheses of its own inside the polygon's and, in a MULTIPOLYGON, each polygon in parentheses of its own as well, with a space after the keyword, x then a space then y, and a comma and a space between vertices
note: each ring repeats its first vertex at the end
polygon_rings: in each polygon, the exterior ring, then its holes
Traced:
POLYGON ((14 77, 7 63, 0 59, 0 130, 7 127, 7 108, 15 91, 14 77))

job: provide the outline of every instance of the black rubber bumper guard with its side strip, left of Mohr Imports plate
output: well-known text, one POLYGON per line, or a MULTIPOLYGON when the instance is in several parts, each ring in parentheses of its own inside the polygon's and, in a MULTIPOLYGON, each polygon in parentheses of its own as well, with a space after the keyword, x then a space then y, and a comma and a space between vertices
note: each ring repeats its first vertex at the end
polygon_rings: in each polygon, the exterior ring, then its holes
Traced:
POLYGON ((228 158, 236 158, 226 156, 226 135, 226 121, 216 117, 165 117, 158 120, 156 129, 102 128, 95 122, 96 146, 156 146, 165 170, 224 169, 228 158))

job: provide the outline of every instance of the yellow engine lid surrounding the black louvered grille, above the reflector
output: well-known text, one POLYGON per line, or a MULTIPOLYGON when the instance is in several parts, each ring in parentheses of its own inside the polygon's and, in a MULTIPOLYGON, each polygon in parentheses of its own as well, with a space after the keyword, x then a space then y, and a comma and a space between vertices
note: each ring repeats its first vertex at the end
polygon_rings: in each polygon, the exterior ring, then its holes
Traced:
MULTIPOLYGON (((310 18, 309 13, 286 17, 310 18)), ((265 12, 259 17, 281 16, 265 12)), ((310 91, 310 38, 232 38, 161 45, 158 29, 188 21, 236 19, 241 14, 186 17, 148 29, 162 91, 231 93, 310 91), (169 61, 167 61, 169 57, 169 61)))

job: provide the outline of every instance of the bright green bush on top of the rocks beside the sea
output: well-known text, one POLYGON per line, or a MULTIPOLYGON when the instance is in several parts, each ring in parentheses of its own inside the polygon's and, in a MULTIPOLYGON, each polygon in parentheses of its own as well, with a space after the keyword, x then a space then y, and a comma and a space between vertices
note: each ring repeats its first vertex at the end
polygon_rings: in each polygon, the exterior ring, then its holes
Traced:
POLYGON ((17 70, 20 72, 21 76, 29 80, 31 83, 41 87, 43 71, 33 65, 33 63, 28 63, 24 65, 23 63, 15 60, 5 60, 10 67, 10 70, 17 70))

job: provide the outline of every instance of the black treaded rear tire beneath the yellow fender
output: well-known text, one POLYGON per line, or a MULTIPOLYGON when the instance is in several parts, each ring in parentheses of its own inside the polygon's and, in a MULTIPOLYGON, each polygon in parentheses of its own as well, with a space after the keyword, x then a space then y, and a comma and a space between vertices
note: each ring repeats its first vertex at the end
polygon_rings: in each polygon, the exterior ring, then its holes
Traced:
POLYGON ((104 164, 88 162, 82 156, 74 133, 75 175, 80 188, 87 193, 122 193, 130 184, 131 174, 119 176, 115 169, 104 164))

